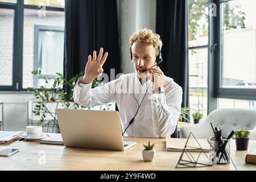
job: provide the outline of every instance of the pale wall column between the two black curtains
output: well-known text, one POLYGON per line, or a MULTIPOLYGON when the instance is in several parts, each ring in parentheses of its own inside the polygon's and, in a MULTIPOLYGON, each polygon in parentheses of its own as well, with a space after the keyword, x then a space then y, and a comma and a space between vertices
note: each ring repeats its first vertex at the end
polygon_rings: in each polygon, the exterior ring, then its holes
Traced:
POLYGON ((131 72, 130 36, 141 28, 155 32, 156 0, 117 0, 121 71, 131 72))

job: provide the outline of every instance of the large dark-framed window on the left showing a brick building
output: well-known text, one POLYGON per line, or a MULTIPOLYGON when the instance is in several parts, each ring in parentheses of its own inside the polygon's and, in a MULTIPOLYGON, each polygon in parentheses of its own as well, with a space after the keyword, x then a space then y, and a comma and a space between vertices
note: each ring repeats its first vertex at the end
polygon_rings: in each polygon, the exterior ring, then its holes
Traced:
POLYGON ((32 71, 63 73, 65 0, 0 0, 0 90, 39 87, 32 71))

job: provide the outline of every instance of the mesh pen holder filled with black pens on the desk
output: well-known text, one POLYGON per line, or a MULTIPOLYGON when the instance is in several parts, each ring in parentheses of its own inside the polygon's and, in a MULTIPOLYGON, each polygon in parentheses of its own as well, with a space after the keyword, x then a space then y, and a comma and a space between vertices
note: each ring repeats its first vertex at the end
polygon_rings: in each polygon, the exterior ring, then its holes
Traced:
POLYGON ((210 137, 210 159, 213 164, 229 164, 230 163, 230 139, 222 137, 217 140, 215 137, 210 137), (222 147, 221 147, 222 145, 222 147))

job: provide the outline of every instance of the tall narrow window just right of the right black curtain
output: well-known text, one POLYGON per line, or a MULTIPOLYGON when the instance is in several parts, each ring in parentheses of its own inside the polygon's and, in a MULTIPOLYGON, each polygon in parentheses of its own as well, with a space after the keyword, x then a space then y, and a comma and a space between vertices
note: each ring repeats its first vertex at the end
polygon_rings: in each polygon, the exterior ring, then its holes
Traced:
MULTIPOLYGON (((208 0, 188 0, 189 107, 207 116, 208 0)), ((193 118, 191 118, 192 121, 193 118)))

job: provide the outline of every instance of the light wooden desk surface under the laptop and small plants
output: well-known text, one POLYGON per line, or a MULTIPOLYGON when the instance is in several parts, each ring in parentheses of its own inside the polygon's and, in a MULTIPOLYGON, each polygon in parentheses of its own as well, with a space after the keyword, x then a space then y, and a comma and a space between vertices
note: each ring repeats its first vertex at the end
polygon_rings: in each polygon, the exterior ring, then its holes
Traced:
MULTIPOLYGON (((125 137, 124 140, 136 141, 137 145, 126 151, 105 151, 40 144, 39 141, 0 144, 0 150, 19 148, 20 151, 9 158, 0 157, 0 170, 235 170, 231 162, 212 167, 177 169, 175 166, 181 152, 166 151, 165 138, 125 137), (153 162, 142 160, 142 143, 148 140, 156 143, 153 162), (39 164, 44 161, 42 154, 46 154, 45 164, 39 164)), ((256 140, 250 140, 249 150, 255 146, 256 140)), ((236 151, 234 140, 230 153, 238 170, 256 170, 256 165, 245 163, 247 151, 236 151)))

